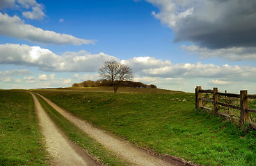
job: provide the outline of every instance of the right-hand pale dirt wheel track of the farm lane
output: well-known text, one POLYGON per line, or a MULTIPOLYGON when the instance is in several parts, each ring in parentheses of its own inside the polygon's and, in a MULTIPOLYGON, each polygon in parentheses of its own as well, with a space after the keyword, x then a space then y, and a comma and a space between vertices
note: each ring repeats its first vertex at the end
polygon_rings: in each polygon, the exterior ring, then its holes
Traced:
POLYGON ((139 149, 132 145, 129 142, 125 142, 118 138, 111 136, 109 133, 97 129, 90 125, 85 120, 80 120, 79 118, 72 116, 71 113, 68 113, 61 107, 58 107, 56 104, 45 98, 44 96, 40 95, 43 99, 45 99, 56 111, 61 113, 67 120, 70 120, 73 124, 77 125, 80 129, 82 129, 88 136, 97 140, 97 142, 101 143, 106 147, 106 149, 110 149, 111 151, 115 152, 118 156, 124 158, 125 160, 129 161, 130 163, 134 163, 134 165, 175 165, 172 163, 168 163, 165 160, 161 160, 157 156, 152 156, 151 154, 147 153, 143 149, 139 149))

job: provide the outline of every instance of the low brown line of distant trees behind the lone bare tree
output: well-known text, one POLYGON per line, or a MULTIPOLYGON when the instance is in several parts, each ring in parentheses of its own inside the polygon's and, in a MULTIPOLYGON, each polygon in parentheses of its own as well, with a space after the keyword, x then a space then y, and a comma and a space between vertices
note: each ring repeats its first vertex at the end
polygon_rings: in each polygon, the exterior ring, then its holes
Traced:
MULTIPOLYGON (((81 83, 74 83, 72 84, 73 87, 75 86, 81 86, 81 87, 97 87, 97 86, 113 86, 113 82, 111 80, 97 80, 97 81, 91 81, 87 80, 81 83)), ((132 82, 132 81, 120 81, 119 86, 125 86, 125 87, 133 87, 133 88, 152 88, 156 89, 157 86, 154 84, 143 84, 141 82, 132 82)))

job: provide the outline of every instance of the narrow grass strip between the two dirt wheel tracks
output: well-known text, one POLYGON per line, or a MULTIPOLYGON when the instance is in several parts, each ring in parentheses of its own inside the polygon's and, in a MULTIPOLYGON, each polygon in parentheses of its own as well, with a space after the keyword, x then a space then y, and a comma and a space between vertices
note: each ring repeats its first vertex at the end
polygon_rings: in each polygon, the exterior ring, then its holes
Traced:
POLYGON ((101 144, 93 140, 93 138, 88 137, 86 133, 83 133, 81 129, 61 116, 60 113, 45 102, 45 100, 40 98, 40 96, 37 95, 37 98, 51 119, 54 120, 70 140, 77 142, 80 147, 88 151, 89 154, 95 156, 95 159, 106 165, 129 165, 127 161, 118 158, 112 154, 111 151, 106 150, 101 144))

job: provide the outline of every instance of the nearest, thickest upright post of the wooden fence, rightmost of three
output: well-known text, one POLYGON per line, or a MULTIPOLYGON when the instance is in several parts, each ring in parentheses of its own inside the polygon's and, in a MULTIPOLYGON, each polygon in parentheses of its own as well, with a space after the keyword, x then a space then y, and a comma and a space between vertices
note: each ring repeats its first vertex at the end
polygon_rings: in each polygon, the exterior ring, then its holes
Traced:
POLYGON ((241 127, 245 122, 250 120, 248 109, 248 96, 247 91, 240 91, 240 105, 241 105, 241 113, 239 126, 241 127))

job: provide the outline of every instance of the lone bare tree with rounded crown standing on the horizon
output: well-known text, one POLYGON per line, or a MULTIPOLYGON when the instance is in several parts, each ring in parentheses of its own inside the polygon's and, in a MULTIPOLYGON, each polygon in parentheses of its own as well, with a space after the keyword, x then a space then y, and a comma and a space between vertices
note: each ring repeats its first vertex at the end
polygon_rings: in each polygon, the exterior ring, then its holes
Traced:
POLYGON ((106 61, 104 66, 99 68, 99 75, 102 79, 111 80, 115 93, 120 81, 131 80, 133 77, 129 66, 114 60, 106 61))

